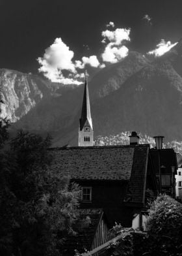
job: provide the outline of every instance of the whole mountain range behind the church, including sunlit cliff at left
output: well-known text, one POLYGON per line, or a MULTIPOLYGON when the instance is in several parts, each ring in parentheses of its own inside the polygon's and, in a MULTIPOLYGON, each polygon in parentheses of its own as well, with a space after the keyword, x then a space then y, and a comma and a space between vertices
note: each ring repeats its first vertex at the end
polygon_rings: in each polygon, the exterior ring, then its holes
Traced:
MULTIPOLYGON (((137 131, 182 140, 181 53, 182 42, 156 59, 133 52, 99 71, 88 82, 95 138, 137 131)), ((49 132, 54 146, 77 146, 83 86, 55 87, 38 76, 7 70, 1 70, 0 84, 3 114, 16 128, 49 132)))

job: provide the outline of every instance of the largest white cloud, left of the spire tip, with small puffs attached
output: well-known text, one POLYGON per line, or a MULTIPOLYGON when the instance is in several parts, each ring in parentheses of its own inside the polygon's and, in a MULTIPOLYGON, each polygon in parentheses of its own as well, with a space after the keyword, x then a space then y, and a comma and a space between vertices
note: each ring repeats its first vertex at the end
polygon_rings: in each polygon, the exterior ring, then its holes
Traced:
POLYGON ((62 39, 57 38, 47 49, 43 57, 38 57, 40 64, 39 72, 43 72, 44 76, 49 78, 51 82, 59 82, 62 84, 82 84, 83 73, 79 73, 77 69, 84 69, 85 65, 91 67, 99 67, 100 63, 97 56, 82 57, 82 61, 73 61, 74 52, 70 50, 62 39), (62 71, 69 71, 68 77, 64 76, 62 71))

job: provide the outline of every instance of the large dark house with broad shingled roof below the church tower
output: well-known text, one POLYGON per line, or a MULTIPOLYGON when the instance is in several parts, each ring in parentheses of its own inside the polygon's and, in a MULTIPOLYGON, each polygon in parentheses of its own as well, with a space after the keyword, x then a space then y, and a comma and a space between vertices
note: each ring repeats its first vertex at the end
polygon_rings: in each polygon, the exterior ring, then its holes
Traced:
POLYGON ((51 169, 82 187, 81 208, 103 208, 109 227, 131 227, 157 183, 149 145, 52 148, 51 169), (149 193, 150 192, 150 193, 149 193))

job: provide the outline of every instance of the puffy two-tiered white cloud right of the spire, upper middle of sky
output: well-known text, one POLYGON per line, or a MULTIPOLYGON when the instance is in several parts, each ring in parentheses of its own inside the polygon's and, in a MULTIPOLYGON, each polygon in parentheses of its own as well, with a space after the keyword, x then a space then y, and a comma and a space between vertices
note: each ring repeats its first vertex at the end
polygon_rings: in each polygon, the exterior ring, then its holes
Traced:
POLYGON ((101 57, 103 61, 116 63, 128 54, 128 48, 123 45, 123 41, 130 41, 130 29, 116 29, 115 31, 105 30, 102 32, 103 43, 107 43, 101 57))

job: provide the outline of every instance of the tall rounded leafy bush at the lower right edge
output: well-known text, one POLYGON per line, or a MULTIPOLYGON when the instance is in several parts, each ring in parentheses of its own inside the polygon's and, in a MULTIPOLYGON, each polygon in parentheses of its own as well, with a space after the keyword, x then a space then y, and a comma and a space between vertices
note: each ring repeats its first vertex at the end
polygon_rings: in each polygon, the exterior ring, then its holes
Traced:
POLYGON ((146 227, 148 255, 182 255, 182 204, 160 195, 151 204, 146 227))

